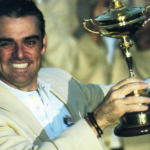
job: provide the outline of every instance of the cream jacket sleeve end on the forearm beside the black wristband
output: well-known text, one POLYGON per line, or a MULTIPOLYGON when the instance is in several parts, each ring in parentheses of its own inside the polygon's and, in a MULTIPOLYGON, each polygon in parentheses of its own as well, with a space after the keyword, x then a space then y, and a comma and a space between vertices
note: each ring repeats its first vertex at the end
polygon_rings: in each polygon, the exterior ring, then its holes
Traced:
POLYGON ((54 143, 62 150, 104 150, 102 143, 84 119, 79 120, 71 128, 62 132, 54 143))

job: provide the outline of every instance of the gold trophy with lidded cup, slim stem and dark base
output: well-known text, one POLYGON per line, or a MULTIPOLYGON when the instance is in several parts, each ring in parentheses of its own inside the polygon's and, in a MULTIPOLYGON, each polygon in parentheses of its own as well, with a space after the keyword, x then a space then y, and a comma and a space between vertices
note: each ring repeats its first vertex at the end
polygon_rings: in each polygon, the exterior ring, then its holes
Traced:
MULTIPOLYGON (((144 21, 149 7, 150 6, 146 8, 132 8, 126 6, 122 0, 112 0, 107 13, 95 19, 85 19, 83 23, 84 28, 92 33, 122 39, 120 48, 123 50, 129 68, 129 77, 135 76, 132 69, 132 54, 129 50, 132 46, 130 37, 150 21, 150 19, 144 21), (92 31, 86 27, 86 23, 89 21, 98 27, 99 32, 92 31)), ((136 90, 130 95, 150 97, 150 89, 136 90)), ((115 128, 114 133, 120 137, 150 133, 150 105, 148 105, 148 107, 149 109, 145 112, 126 113, 122 116, 120 124, 115 128)))

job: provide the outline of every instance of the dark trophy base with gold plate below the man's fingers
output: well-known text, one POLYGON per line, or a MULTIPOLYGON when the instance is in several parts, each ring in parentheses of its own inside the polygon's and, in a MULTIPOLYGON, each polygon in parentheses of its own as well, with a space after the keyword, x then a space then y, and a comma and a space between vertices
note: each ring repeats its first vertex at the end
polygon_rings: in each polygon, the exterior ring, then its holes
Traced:
MULTIPOLYGON (((150 89, 139 90, 140 96, 150 97, 150 89)), ((131 93, 128 96, 133 96, 131 93)), ((114 133, 120 137, 132 137, 150 133, 150 104, 148 110, 143 112, 126 113, 120 118, 120 124, 115 128, 114 133)))

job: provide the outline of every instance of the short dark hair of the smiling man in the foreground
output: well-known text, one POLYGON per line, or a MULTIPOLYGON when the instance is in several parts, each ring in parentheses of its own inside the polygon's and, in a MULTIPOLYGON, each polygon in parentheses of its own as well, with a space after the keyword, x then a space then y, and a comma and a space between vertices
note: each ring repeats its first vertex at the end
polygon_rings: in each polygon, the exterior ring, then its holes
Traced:
POLYGON ((25 17, 33 15, 38 20, 38 26, 42 34, 45 35, 45 20, 42 12, 37 8, 33 0, 0 0, 0 17, 25 17))

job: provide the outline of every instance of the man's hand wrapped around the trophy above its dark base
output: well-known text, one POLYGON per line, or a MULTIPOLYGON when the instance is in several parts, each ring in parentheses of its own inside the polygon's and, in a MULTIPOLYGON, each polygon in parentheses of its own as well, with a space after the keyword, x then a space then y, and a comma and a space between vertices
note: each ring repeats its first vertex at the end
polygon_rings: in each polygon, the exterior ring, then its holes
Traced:
MULTIPOLYGON (((148 106, 139 104, 150 103, 150 98, 141 96, 126 97, 135 90, 146 88, 148 88, 148 84, 137 78, 127 78, 112 87, 104 101, 94 111, 94 117, 99 127, 104 130, 107 126, 117 123, 125 113, 146 111, 148 106)), ((92 127, 88 117, 86 121, 92 127)), ((92 129, 97 134, 94 127, 92 129)))

